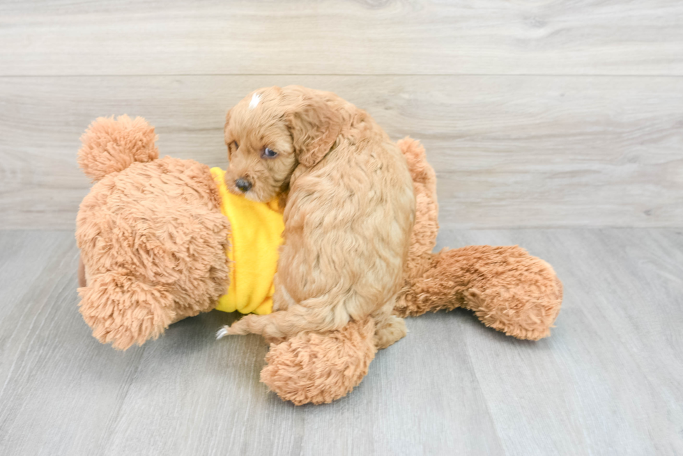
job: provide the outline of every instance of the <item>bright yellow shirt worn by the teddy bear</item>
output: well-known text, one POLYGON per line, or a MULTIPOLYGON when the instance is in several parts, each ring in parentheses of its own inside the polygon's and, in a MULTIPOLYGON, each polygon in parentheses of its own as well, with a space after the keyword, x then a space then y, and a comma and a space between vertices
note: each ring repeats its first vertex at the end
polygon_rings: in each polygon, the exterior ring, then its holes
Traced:
POLYGON ((277 200, 257 203, 237 196, 225 186, 225 171, 211 168, 221 197, 220 211, 231 226, 227 255, 231 263, 228 292, 218 299, 218 310, 257 313, 273 311, 273 277, 282 244, 284 222, 277 200))

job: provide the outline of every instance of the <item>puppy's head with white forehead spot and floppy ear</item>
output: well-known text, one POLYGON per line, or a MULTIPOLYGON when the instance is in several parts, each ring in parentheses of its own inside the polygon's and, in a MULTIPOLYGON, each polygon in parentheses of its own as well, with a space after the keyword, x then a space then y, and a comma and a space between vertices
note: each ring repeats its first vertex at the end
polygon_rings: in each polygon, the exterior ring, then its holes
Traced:
POLYGON ((270 201, 287 189, 297 166, 325 157, 341 128, 341 114, 323 93, 300 86, 254 91, 225 119, 225 183, 233 193, 270 201))

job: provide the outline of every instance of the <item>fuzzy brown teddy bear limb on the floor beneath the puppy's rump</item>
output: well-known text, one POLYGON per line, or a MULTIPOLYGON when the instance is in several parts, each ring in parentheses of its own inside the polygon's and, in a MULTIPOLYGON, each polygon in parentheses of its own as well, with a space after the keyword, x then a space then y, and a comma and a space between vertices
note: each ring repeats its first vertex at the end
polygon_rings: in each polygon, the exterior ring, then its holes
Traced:
POLYGON ((375 356, 372 318, 331 333, 298 333, 271 344, 261 382, 296 405, 327 404, 358 386, 375 356))

